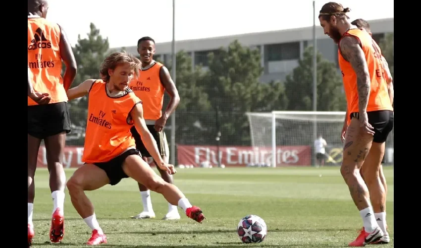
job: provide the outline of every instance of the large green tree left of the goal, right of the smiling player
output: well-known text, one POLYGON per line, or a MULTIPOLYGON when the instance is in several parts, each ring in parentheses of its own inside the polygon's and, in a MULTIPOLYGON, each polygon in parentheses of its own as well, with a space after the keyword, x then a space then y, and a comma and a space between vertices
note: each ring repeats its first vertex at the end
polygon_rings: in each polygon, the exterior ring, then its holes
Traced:
POLYGON ((283 109, 286 99, 279 82, 261 83, 263 73, 258 49, 243 47, 237 40, 228 48, 208 55, 209 71, 204 88, 209 94, 212 112, 207 115, 211 137, 216 134, 215 110, 220 119, 221 144, 250 145, 250 127, 246 112, 283 109))

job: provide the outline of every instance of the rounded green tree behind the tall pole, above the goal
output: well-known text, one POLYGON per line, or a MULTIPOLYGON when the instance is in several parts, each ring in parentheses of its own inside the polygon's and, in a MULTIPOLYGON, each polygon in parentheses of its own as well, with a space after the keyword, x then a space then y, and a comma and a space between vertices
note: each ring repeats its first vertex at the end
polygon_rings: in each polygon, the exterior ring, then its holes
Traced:
MULTIPOLYGON (((346 100, 340 74, 334 63, 317 53, 317 111, 346 111, 346 100)), ((304 51, 291 75, 285 80, 288 110, 313 109, 313 47, 304 51)))

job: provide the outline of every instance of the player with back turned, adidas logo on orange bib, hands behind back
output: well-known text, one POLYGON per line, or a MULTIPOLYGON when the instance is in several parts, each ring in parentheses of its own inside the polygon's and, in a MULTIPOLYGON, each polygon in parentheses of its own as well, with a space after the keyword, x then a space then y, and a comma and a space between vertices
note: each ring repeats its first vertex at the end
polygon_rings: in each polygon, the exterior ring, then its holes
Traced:
POLYGON ((53 197, 49 239, 58 243, 64 235, 66 176, 62 160, 70 132, 66 90, 76 76, 76 61, 63 28, 45 19, 47 11, 46 0, 28 0, 28 246, 34 238, 34 175, 41 140, 47 150, 53 197), (63 77, 61 61, 66 65, 63 77))

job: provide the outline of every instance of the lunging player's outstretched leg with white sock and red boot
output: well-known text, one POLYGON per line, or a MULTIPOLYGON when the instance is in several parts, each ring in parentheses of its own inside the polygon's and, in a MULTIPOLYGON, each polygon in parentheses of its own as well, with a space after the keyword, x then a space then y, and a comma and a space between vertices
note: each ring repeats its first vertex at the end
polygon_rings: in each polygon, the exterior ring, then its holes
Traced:
POLYGON ((172 205, 181 207, 189 218, 199 223, 205 219, 200 208, 192 206, 177 186, 165 182, 141 157, 128 156, 124 161, 123 171, 138 183, 162 194, 172 205))

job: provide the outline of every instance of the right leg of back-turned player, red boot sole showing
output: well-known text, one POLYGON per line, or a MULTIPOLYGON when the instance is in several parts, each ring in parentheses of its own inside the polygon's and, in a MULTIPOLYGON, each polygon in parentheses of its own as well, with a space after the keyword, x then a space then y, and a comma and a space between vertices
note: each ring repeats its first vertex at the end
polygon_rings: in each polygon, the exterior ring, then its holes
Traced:
POLYGON ((47 152, 47 166, 50 173, 50 189, 53 198, 53 216, 50 228, 50 241, 59 243, 64 236, 64 188, 66 175, 63 169, 64 144, 66 133, 59 133, 44 139, 47 152))

